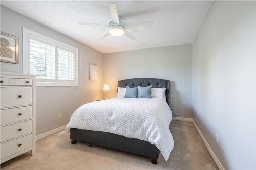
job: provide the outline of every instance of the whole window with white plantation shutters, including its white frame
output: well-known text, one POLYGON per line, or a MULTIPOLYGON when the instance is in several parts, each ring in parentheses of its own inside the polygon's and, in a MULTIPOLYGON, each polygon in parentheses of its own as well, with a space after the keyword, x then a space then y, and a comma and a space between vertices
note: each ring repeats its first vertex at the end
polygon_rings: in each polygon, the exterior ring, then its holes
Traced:
POLYGON ((23 28, 24 73, 37 86, 77 86, 78 49, 23 28))

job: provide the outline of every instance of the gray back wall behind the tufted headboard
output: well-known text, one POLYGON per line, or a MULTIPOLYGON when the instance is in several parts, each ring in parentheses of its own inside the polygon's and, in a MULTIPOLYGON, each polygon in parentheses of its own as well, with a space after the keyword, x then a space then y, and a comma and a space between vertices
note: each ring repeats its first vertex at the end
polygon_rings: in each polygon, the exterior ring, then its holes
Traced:
POLYGON ((173 116, 191 117, 191 54, 190 44, 104 54, 104 83, 110 86, 108 96, 116 96, 118 80, 138 77, 171 80, 173 116))

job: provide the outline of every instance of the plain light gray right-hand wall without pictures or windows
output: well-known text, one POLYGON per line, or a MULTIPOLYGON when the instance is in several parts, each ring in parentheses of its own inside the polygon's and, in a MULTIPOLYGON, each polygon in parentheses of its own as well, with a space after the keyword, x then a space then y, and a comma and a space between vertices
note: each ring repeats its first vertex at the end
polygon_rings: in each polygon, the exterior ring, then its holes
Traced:
POLYGON ((193 118, 225 169, 256 169, 255 3, 214 2, 193 43, 193 118))

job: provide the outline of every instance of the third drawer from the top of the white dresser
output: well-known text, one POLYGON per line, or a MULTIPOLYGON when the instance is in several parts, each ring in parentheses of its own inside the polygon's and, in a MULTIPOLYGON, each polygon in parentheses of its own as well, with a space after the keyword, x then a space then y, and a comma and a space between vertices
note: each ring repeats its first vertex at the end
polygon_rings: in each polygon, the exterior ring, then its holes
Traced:
POLYGON ((32 118, 32 106, 4 109, 0 111, 1 126, 32 118))

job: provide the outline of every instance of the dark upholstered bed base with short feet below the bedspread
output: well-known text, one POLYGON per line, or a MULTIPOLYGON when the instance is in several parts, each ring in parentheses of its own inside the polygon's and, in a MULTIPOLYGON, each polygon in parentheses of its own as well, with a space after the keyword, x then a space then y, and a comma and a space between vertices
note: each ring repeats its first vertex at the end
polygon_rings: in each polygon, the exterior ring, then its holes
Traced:
POLYGON ((70 139, 72 144, 76 144, 79 141, 99 147, 150 157, 150 161, 153 164, 157 164, 157 159, 159 158, 158 148, 150 142, 127 138, 109 132, 72 128, 70 129, 70 139))

